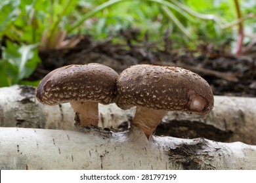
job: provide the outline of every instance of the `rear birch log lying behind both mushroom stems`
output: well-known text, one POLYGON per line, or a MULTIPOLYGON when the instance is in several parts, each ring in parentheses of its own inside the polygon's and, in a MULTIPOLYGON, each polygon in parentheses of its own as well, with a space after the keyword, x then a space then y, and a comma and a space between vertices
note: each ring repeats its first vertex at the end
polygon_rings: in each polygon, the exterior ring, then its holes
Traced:
MULTIPOLYGON (((0 125, 74 130, 74 111, 69 103, 46 106, 34 97, 29 86, 0 88, 0 125)), ((207 116, 169 112, 156 135, 256 144, 256 98, 215 96, 215 107, 207 116)), ((99 126, 119 127, 131 122, 135 108, 121 110, 115 104, 99 105, 99 126)))

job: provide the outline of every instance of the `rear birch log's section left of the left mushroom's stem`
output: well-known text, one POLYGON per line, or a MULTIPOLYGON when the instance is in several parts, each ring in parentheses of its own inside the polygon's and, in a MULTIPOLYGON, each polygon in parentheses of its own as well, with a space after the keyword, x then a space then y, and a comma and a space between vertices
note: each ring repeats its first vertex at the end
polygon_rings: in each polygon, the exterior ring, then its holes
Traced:
POLYGON ((69 104, 42 105, 35 99, 35 88, 15 85, 0 88, 0 125, 75 129, 74 112, 69 104))

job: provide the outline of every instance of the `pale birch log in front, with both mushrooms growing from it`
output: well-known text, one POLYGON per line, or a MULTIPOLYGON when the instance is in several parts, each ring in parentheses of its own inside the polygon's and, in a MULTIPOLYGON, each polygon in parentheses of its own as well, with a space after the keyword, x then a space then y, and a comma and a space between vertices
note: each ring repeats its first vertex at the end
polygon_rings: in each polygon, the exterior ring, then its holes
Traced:
POLYGON ((256 169, 256 146, 207 139, 0 127, 0 169, 256 169))

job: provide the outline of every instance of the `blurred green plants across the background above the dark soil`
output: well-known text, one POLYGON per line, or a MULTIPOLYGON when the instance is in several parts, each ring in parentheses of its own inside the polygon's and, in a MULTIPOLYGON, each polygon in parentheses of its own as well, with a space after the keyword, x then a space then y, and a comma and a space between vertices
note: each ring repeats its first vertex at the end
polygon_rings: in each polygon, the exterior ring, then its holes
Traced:
POLYGON ((89 34, 95 39, 114 37, 120 31, 139 30, 140 40, 148 33, 150 42, 160 42, 168 32, 175 48, 196 48, 200 41, 215 45, 235 44, 238 24, 245 39, 255 39, 256 1, 240 0, 1 0, 0 87, 34 84, 28 78, 37 67, 40 50, 70 48, 89 34))

